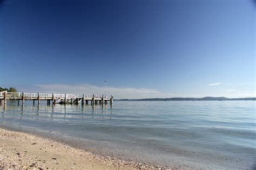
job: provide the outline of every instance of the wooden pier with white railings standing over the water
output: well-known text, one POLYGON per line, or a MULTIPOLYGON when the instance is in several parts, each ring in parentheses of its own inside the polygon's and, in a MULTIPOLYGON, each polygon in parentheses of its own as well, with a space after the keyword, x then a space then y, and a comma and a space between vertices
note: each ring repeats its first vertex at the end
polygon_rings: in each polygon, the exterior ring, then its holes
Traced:
POLYGON ((33 104, 35 101, 39 104, 41 100, 47 100, 47 104, 89 104, 89 102, 94 104, 113 104, 113 96, 110 98, 104 97, 104 95, 97 97, 95 94, 92 97, 87 97, 87 95, 83 94, 82 98, 79 98, 78 94, 55 94, 55 93, 14 93, 14 92, 7 92, 3 91, 0 92, 0 100, 4 100, 6 104, 6 100, 17 100, 18 103, 22 100, 24 105, 25 100, 32 100, 33 104))

